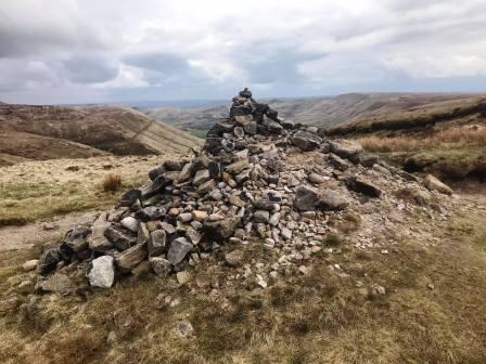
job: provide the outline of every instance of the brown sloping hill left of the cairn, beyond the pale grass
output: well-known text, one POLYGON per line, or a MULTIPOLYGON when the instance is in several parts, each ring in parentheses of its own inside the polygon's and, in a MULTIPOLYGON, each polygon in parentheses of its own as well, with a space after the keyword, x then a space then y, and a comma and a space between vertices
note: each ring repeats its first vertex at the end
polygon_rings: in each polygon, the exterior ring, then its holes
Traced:
POLYGON ((120 106, 0 105, 0 164, 103 154, 183 153, 201 141, 120 106))

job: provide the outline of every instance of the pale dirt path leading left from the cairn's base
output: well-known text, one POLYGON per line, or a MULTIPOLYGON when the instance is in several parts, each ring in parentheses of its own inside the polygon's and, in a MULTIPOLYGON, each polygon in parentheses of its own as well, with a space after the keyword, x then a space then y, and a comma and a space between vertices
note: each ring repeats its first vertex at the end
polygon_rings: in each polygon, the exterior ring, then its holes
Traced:
POLYGON ((24 226, 7 226, 0 229, 0 251, 29 249, 36 244, 59 239, 75 224, 90 222, 97 211, 69 213, 54 218, 49 222, 37 222, 24 226), (44 226, 51 224, 52 230, 44 226))

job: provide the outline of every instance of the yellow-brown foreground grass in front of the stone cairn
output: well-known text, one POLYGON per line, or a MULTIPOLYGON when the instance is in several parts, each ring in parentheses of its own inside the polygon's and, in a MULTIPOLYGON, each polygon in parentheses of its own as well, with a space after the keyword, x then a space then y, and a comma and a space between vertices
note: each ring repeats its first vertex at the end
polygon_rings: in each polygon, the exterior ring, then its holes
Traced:
MULTIPOLYGON (((483 363, 486 258, 472 247, 484 244, 484 235, 470 220, 449 227, 436 247, 410 239, 391 257, 357 250, 315 258, 309 275, 281 277, 266 290, 226 281, 238 269, 220 265, 212 271, 219 281, 216 295, 149 276, 124 280, 87 300, 39 297, 35 306, 0 318, 0 359, 12 364, 483 363), (338 259, 350 278, 328 269, 338 259), (355 273, 355 261, 366 275, 355 273), (358 292, 356 280, 367 295, 358 292), (431 282, 434 290, 427 288, 431 282), (386 295, 374 294, 374 284, 386 295), (158 310, 159 295, 181 303, 158 310), (192 323, 193 338, 175 333, 182 320, 192 323), (117 339, 108 346, 112 330, 117 339)), ((214 263, 203 262, 193 274, 204 275, 209 266, 214 263)), ((12 283, 20 273, 5 274, 10 278, 2 281, 12 283)), ((22 301, 28 302, 27 296, 22 301)))

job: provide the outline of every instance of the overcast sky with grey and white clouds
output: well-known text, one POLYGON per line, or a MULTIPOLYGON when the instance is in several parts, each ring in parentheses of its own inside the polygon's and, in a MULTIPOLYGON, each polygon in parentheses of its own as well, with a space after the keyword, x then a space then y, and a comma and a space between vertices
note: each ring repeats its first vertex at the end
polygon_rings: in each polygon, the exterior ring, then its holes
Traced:
POLYGON ((0 0, 0 101, 486 91, 485 0, 0 0))

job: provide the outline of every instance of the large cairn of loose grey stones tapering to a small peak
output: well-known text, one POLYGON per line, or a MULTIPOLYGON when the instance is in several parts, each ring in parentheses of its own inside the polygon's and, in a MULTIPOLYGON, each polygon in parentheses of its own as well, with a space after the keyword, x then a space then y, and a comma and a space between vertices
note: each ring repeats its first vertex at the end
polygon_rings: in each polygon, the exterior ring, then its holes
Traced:
MULTIPOLYGON (((228 243, 277 249, 276 269, 291 266, 319 250, 330 214, 363 198, 380 199, 385 186, 413 184, 426 193, 415 177, 363 155, 359 145, 283 120, 247 89, 233 98, 229 118, 209 130, 192 160, 167 160, 149 178, 92 224, 74 226, 62 243, 44 247, 39 290, 50 289, 54 271, 81 272, 102 288, 142 265, 167 276, 228 243), (290 161, 304 152, 314 153, 311 165, 290 161)), ((239 259, 229 256, 227 262, 238 265, 239 259)), ((258 280, 266 285, 265 274, 258 280)))

